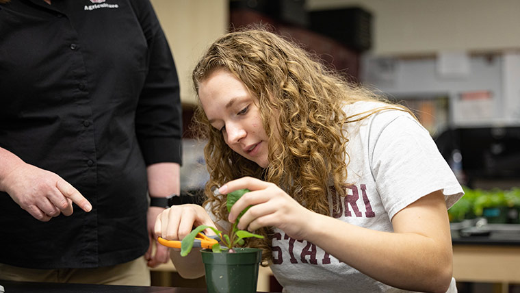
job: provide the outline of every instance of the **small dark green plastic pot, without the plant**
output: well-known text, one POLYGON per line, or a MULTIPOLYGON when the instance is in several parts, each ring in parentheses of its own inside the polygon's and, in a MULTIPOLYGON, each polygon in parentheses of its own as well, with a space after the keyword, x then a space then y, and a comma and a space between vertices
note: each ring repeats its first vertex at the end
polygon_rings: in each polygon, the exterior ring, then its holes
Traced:
POLYGON ((255 293, 262 259, 260 249, 237 248, 235 253, 200 251, 206 270, 208 293, 255 293))

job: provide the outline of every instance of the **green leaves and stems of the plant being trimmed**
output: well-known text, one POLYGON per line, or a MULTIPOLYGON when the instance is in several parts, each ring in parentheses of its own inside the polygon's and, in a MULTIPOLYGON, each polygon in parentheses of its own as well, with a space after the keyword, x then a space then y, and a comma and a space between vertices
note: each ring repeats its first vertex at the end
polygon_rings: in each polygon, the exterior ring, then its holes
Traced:
MULTIPOLYGON (((244 195, 246 192, 249 192, 249 190, 240 189, 240 190, 235 190, 233 192, 229 192, 229 194, 227 194, 226 207, 227 207, 228 212, 231 211, 231 207, 233 207, 233 205, 238 201, 238 199, 240 197, 242 197, 242 195, 244 195)), ((215 232, 217 235, 220 235, 222 244, 224 244, 224 247, 222 247, 222 245, 220 245, 219 243, 213 245, 212 250, 214 253, 221 253, 222 251, 229 251, 230 253, 232 253, 233 247, 235 247, 235 245, 237 245, 237 244, 244 245, 244 238, 250 238, 250 237, 263 238, 262 235, 250 233, 249 231, 239 230, 237 228, 237 224, 238 224, 240 218, 242 218, 242 215, 244 215, 244 213, 247 212, 247 210, 249 208, 250 208, 250 206, 246 207, 246 209, 244 209, 242 212, 240 212, 240 214, 237 216, 237 220, 235 220, 235 222, 233 223, 233 226, 231 227, 229 233, 227 233, 227 234, 224 234, 224 233, 222 233, 222 231, 218 231, 217 229, 206 226, 206 225, 200 225, 200 226, 196 227, 195 229, 193 229, 192 232, 190 234, 186 235, 186 237, 181 242, 181 255, 182 256, 188 255, 188 253, 190 253, 190 251, 192 251, 192 247, 193 247, 193 243, 195 241, 196 235, 208 228, 213 230, 213 232, 215 232)))

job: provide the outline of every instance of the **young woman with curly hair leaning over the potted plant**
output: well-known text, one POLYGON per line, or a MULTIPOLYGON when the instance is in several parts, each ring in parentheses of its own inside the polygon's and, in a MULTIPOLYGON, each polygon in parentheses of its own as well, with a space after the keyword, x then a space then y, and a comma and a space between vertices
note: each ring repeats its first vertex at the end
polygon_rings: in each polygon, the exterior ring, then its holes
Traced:
MULTIPOLYGON (((413 114, 261 29, 216 40, 193 80, 208 199, 164 211, 157 235, 226 231, 252 205, 238 227, 267 236, 248 245, 287 292, 456 292, 447 207, 463 190, 413 114)), ((198 251, 170 256, 204 274, 198 251)))

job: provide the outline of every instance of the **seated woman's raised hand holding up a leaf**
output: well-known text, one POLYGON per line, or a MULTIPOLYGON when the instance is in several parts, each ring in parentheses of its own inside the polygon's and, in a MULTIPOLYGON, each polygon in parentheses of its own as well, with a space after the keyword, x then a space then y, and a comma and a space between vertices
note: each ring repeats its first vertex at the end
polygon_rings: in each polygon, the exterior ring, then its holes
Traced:
POLYGON ((246 207, 250 209, 242 215, 237 225, 238 229, 255 231, 261 227, 277 227, 289 237, 301 240, 309 233, 307 225, 315 214, 295 201, 274 183, 268 183, 252 177, 243 177, 229 181, 219 189, 222 194, 248 188, 231 208, 229 221, 235 222, 237 216, 246 207))

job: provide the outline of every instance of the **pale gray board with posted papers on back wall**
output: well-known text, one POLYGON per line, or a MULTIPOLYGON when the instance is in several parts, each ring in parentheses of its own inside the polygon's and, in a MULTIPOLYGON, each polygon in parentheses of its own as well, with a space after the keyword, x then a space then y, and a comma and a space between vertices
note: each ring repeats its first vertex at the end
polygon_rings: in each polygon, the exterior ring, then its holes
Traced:
POLYGON ((361 79, 396 99, 449 97, 455 127, 520 125, 520 55, 473 55, 467 62, 465 74, 450 76, 439 70, 438 58, 365 55, 361 79))

